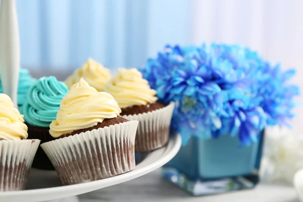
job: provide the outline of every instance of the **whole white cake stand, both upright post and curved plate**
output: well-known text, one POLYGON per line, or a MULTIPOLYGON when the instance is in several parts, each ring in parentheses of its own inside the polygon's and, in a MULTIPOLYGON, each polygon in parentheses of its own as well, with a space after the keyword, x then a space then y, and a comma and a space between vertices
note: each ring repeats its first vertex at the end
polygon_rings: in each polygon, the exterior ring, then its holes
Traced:
MULTIPOLYGON (((20 67, 19 30, 15 0, 1 0, 0 5, 0 71, 4 93, 17 107, 17 90, 20 67)), ((119 184, 163 166, 170 161, 181 146, 181 138, 175 135, 167 146, 151 152, 129 173, 108 179, 76 185, 61 186, 55 171, 32 170, 28 190, 0 192, 1 202, 76 202, 76 195, 119 184), (68 198, 67 198, 68 197, 68 198), (62 199, 63 198, 63 199, 62 199)))

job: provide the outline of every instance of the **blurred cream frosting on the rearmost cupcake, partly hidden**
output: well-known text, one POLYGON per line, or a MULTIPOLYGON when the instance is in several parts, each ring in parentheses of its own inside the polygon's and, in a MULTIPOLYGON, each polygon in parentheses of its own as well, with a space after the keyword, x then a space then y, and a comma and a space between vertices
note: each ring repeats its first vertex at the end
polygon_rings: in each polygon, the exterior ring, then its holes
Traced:
POLYGON ((88 58, 82 67, 75 70, 74 73, 65 80, 65 83, 68 88, 70 88, 73 84, 77 83, 81 77, 97 91, 103 91, 104 85, 111 78, 111 72, 109 69, 103 67, 103 65, 88 58))

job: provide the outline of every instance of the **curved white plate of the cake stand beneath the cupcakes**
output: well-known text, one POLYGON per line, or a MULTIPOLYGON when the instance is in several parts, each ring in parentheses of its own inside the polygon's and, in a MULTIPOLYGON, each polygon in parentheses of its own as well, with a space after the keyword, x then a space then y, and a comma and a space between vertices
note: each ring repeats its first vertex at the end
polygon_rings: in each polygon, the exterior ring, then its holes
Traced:
MULTIPOLYGON (((59 176, 55 171, 32 169, 28 180, 29 190, 0 192, 0 201, 37 202, 54 200, 54 202, 62 202, 62 200, 56 199, 91 192, 100 188, 126 182, 154 171, 169 162, 178 153, 180 147, 181 136, 175 135, 165 147, 149 153, 141 163, 136 165, 136 168, 133 171, 115 177, 81 184, 62 186, 59 176)), ((63 201, 68 201, 68 198, 63 199, 63 201)))

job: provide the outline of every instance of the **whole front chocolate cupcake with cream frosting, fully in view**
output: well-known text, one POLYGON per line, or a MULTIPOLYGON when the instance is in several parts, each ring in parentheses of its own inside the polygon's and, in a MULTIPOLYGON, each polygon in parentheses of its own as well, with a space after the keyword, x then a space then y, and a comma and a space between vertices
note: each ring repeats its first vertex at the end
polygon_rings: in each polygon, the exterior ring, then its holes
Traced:
POLYGON ((81 78, 62 99, 49 126, 55 140, 41 144, 64 185, 126 173, 135 167, 138 121, 119 116, 114 97, 81 78))

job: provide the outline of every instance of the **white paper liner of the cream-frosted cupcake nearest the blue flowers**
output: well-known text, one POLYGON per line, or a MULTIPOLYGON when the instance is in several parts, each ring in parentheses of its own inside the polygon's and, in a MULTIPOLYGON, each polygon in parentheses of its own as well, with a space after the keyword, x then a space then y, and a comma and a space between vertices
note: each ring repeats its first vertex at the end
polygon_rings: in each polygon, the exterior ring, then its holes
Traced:
POLYGON ((170 103, 155 111, 122 116, 130 121, 139 121, 135 140, 136 153, 152 151, 167 144, 174 107, 174 103, 170 103))

